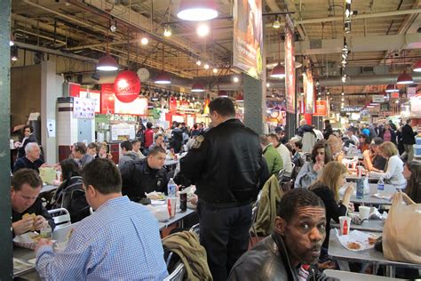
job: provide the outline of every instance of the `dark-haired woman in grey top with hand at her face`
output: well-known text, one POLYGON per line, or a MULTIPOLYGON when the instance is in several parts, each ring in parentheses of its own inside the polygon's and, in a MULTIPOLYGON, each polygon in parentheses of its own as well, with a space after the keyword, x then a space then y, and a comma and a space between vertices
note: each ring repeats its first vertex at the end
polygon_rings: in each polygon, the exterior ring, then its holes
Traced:
POLYGON ((332 160, 330 148, 326 141, 317 141, 312 150, 312 161, 306 162, 299 170, 295 180, 294 187, 296 189, 307 189, 322 173, 324 165, 332 160))

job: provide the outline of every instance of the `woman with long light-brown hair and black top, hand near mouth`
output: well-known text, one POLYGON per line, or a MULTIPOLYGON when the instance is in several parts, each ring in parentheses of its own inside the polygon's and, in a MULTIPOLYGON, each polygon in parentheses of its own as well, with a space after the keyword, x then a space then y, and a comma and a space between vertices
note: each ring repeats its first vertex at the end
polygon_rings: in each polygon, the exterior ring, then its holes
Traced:
POLYGON ((330 220, 339 223, 339 217, 346 215, 346 209, 353 208, 350 201, 353 185, 346 188, 342 202, 339 201, 339 189, 346 182, 347 173, 345 165, 332 161, 324 166, 322 175, 308 188, 322 199, 326 207, 326 238, 323 241, 320 261, 326 261, 328 255, 330 220))

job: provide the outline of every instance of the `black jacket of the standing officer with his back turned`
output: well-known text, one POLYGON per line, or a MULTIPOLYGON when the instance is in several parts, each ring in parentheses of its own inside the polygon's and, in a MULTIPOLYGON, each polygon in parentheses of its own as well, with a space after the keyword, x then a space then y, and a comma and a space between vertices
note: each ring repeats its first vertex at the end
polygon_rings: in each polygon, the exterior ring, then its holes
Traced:
POLYGON ((199 136, 180 168, 199 198, 214 204, 248 203, 269 178, 258 134, 238 119, 199 136))

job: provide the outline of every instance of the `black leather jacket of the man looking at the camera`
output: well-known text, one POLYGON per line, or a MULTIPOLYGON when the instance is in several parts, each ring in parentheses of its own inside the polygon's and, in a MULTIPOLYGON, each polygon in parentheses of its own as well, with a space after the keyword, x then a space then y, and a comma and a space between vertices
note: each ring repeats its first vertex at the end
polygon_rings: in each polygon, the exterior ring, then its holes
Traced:
MULTIPOLYGON (((298 269, 290 265, 282 237, 266 237, 235 262, 228 277, 229 281, 296 281, 298 269)), ((310 267, 307 280, 338 280, 324 276, 310 267)))

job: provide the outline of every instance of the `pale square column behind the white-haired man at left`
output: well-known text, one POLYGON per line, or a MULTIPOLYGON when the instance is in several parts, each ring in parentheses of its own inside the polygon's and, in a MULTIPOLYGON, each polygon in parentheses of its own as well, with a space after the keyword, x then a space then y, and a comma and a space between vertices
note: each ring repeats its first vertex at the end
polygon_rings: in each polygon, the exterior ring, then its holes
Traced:
MULTIPOLYGON (((44 149, 44 160, 48 164, 58 162, 57 130, 56 135, 48 134, 48 127, 55 124, 57 112, 57 98, 63 93, 62 76, 56 75, 56 63, 43 61, 41 63, 41 139, 44 149), (54 122, 51 122, 54 120, 54 122)), ((55 128, 54 128, 55 129, 55 128)))

